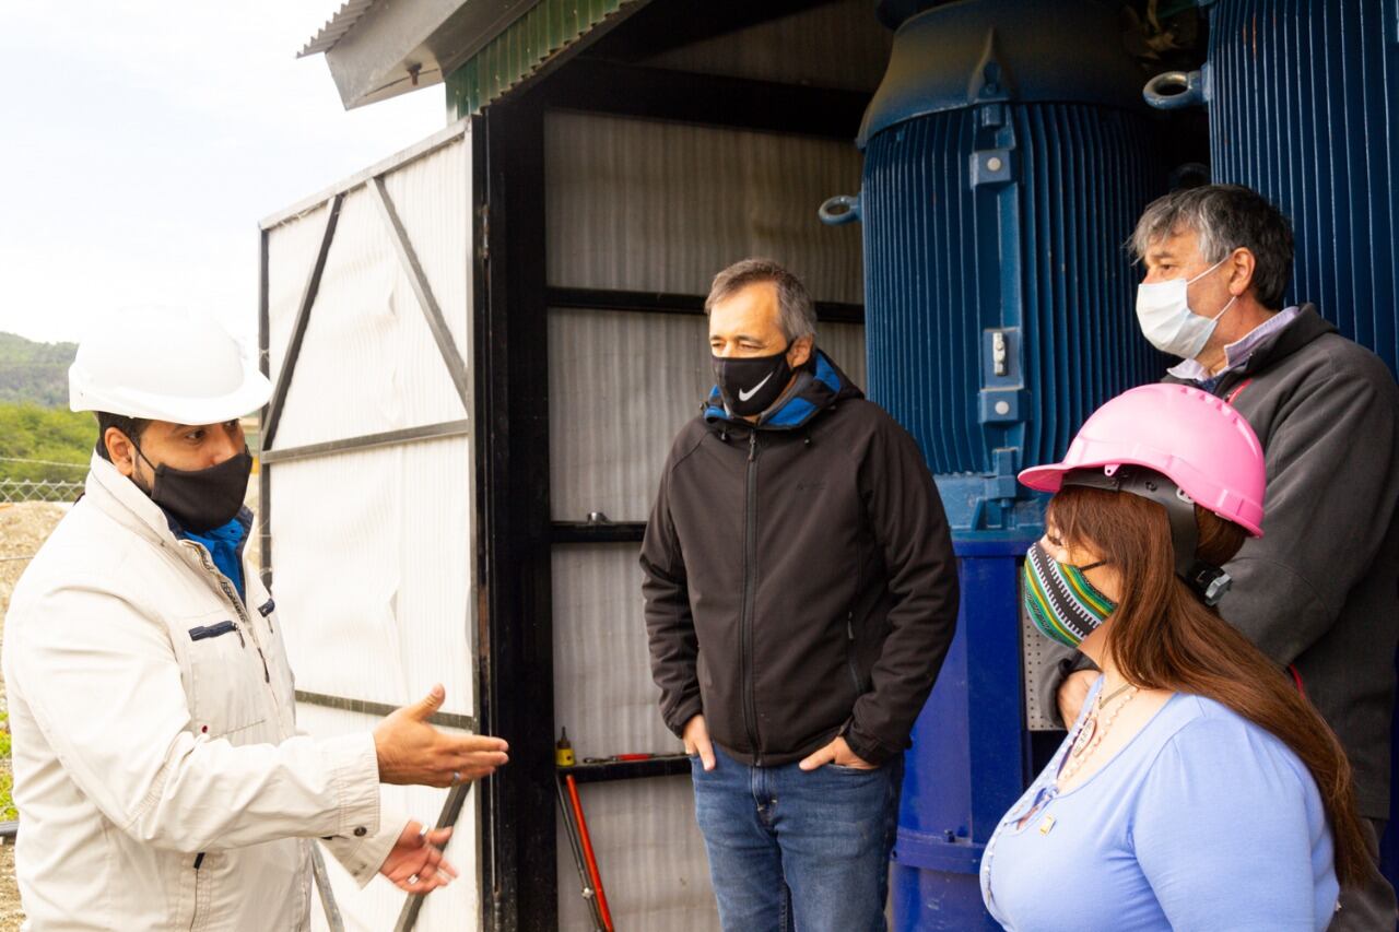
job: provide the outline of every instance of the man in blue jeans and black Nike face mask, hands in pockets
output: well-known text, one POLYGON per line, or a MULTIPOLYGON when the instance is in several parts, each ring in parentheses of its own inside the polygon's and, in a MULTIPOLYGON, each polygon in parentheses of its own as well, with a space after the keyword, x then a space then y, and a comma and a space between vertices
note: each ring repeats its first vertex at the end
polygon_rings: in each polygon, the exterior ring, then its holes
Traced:
POLYGON ((705 302, 718 385, 646 525, 646 631, 725 929, 884 928, 904 749, 957 564, 914 439, 816 350, 789 271, 705 302))

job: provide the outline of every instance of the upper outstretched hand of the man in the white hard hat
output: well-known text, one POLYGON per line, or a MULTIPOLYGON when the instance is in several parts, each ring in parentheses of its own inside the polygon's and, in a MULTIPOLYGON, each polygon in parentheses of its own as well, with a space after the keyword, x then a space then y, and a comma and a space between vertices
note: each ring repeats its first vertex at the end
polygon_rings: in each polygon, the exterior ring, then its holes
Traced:
POLYGON ((374 729, 379 757, 379 781, 450 786, 490 777, 504 767, 509 746, 485 735, 448 735, 428 723, 442 708, 446 690, 438 683, 427 698, 386 715, 374 729))

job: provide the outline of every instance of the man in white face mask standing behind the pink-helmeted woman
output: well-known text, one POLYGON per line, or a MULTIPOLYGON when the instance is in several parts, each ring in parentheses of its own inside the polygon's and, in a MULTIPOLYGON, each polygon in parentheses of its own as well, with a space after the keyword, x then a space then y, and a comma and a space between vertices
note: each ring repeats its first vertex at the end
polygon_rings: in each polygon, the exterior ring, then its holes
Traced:
MULTIPOLYGON (((1224 567, 1234 585, 1220 613, 1340 737, 1378 858, 1399 641, 1399 389, 1315 306, 1283 308, 1293 235, 1258 193, 1210 185, 1168 195, 1146 209, 1132 248, 1147 270, 1142 330, 1182 358, 1167 381, 1228 400, 1263 444, 1263 536, 1224 567)), ((1073 721, 1097 673, 1062 654, 1042 696, 1073 721)), ((1393 929, 1393 890, 1377 873, 1342 891, 1330 928, 1393 929)))

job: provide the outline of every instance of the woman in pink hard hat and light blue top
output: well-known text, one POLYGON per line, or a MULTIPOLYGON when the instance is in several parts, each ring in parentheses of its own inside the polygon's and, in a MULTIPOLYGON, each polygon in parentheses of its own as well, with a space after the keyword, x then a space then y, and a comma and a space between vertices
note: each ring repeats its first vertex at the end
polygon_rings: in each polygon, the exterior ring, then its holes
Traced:
POLYGON ((982 855, 1007 929, 1321 931, 1372 870, 1335 735, 1214 605, 1263 525, 1263 451, 1223 400, 1147 385, 1084 423, 1024 603, 1102 670, 982 855), (1077 896, 1074 896, 1074 893, 1077 896))

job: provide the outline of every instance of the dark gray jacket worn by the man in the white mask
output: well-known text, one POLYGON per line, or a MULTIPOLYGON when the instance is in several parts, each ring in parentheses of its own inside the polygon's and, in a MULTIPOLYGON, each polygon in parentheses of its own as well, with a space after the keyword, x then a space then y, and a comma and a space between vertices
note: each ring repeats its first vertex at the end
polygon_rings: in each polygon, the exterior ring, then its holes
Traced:
MULTIPOLYGON (((1177 379, 1167 379, 1177 381, 1177 379)), ((1389 814, 1399 641, 1399 388, 1312 305, 1210 389, 1263 444, 1263 536, 1226 567, 1220 613, 1300 679, 1356 772, 1360 812, 1389 814)), ((1046 666, 1053 696, 1073 654, 1046 666)))

